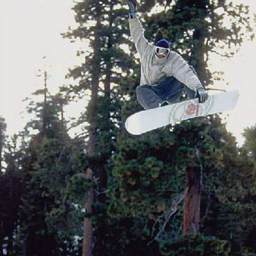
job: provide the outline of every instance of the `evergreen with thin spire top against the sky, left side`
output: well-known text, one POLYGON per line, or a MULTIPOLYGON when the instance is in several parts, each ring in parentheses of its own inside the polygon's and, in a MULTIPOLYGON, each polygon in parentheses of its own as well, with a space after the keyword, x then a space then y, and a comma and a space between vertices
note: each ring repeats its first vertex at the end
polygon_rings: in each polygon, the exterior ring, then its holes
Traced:
MULTIPOLYGON (((65 126, 58 117, 58 102, 49 95, 47 73, 45 72, 44 89, 33 95, 42 102, 30 102, 28 112, 35 117, 26 124, 23 135, 25 146, 21 159, 23 180, 22 204, 19 218, 22 223, 23 254, 56 255, 60 254, 57 236, 48 230, 46 214, 55 205, 55 194, 50 191, 52 176, 46 178, 45 165, 52 169, 58 153, 58 142, 65 140, 65 126), (32 135, 32 134, 33 135, 32 135), (47 157, 46 157, 47 156, 47 157), (47 184, 47 185, 46 185, 47 184)), ((60 150, 60 149, 59 149, 60 150)), ((55 173, 54 177, 58 177, 55 173)), ((55 184, 56 185, 56 184, 55 184)))

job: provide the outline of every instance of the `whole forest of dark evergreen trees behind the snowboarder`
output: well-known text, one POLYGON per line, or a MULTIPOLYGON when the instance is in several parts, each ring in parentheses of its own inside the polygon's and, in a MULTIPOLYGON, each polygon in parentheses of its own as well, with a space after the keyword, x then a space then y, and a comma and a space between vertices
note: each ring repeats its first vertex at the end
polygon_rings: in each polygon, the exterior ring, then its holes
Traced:
MULTIPOLYGON (((239 147, 218 114, 130 135, 124 122, 142 107, 127 6, 83 0, 73 10, 78 27, 63 37, 89 41, 67 74, 75 82, 50 95, 45 72, 24 129, 8 137, 0 119, 0 255, 256 255, 256 126, 239 147), (65 107, 88 96, 66 120, 65 107), (75 126, 82 132, 70 137, 75 126), (190 211, 200 215, 184 231, 193 171, 200 190, 190 211)), ((248 6, 224 0, 140 1, 138 16, 146 38, 169 39, 205 87, 221 79, 209 55, 230 58, 254 37, 248 6)))

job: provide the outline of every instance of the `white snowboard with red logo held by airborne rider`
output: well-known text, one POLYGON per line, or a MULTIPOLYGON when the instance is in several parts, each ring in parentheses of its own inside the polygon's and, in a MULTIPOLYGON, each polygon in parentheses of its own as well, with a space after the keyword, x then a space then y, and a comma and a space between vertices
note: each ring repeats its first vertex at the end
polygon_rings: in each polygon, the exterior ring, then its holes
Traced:
POLYGON ((237 104, 238 96, 238 90, 218 93, 209 92, 208 99, 204 103, 198 103, 197 98, 156 107, 155 109, 142 110, 128 117, 125 127, 129 133, 139 135, 167 124, 175 124, 194 117, 221 113, 233 109, 237 104))

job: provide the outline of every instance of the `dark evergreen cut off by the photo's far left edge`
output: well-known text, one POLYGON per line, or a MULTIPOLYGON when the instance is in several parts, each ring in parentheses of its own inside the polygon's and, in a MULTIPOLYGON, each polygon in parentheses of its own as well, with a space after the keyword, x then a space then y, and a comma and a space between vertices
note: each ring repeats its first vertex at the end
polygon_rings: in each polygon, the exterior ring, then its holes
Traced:
POLYGON ((11 140, 5 139, 3 160, 6 167, 0 175, 1 255, 4 253, 5 255, 18 255, 19 248, 21 248, 19 207, 21 206, 21 191, 23 189, 18 136, 14 135, 11 140))

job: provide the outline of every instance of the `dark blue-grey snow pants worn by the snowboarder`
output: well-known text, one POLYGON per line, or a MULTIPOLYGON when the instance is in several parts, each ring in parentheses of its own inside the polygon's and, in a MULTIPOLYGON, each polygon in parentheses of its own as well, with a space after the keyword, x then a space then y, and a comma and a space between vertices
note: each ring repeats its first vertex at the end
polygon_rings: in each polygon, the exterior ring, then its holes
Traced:
POLYGON ((136 87, 137 100, 144 109, 159 107, 163 102, 177 103, 184 91, 187 93, 188 99, 196 97, 194 90, 191 90, 173 76, 160 81, 154 86, 140 85, 136 87))

